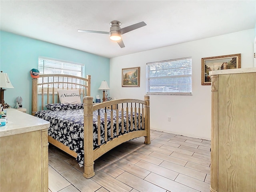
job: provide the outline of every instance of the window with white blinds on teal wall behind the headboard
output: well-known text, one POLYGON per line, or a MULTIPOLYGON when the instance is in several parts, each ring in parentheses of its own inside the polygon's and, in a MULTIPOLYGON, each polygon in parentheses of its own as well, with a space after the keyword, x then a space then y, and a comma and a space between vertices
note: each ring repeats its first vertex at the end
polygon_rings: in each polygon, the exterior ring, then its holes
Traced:
MULTIPOLYGON (((72 61, 59 60, 47 57, 38 57, 38 70, 40 74, 67 74, 78 77, 84 77, 84 64, 76 63, 72 61)), ((58 77, 55 77, 58 78, 58 77)), ((62 77, 62 82, 75 81, 72 78, 62 77)), ((54 79, 55 80, 55 79, 54 79)), ((47 80, 48 81, 48 80, 47 80)), ((53 81, 53 79, 50 79, 53 81)), ((38 80, 38 83, 42 83, 42 79, 38 80)), ((79 83, 79 82, 76 82, 79 83)), ((48 85, 49 88, 51 85, 48 85)), ((71 85, 70 85, 71 86, 71 85)), ((39 87, 38 87, 39 88, 39 87)), ((40 86, 42 88, 42 86, 40 86)), ((54 84, 54 88, 58 88, 58 84, 54 84)), ((77 86, 79 88, 79 86, 77 86)))

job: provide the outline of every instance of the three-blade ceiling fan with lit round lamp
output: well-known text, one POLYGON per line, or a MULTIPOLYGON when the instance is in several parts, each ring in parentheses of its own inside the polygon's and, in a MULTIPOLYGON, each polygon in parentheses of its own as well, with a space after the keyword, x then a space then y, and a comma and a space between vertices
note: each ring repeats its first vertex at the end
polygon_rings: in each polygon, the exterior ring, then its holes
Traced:
POLYGON ((80 29, 78 29, 77 31, 78 32, 88 32, 88 33, 101 33, 101 34, 108 34, 108 35, 110 34, 110 39, 113 40, 113 41, 116 41, 121 48, 124 48, 125 46, 124 46, 124 42, 122 40, 121 35, 129 32, 129 31, 138 29, 140 27, 146 26, 146 25, 147 24, 144 21, 142 21, 142 22, 139 22, 139 23, 136 23, 136 24, 124 27, 124 28, 120 28, 121 22, 112 21, 112 22, 110 22, 110 26, 111 26, 110 27, 110 32, 80 30, 80 29))

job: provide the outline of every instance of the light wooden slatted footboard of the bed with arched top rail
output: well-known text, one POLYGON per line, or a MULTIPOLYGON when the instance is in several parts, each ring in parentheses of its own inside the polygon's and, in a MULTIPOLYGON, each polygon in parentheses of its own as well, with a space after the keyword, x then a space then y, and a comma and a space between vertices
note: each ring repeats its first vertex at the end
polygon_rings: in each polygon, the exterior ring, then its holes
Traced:
MULTIPOLYGON (((101 104, 96 104, 93 106, 92 103, 93 98, 90 96, 84 97, 84 177, 85 178, 91 178, 94 176, 94 160, 96 160, 98 157, 102 156, 112 148, 118 146, 119 144, 126 142, 128 140, 138 138, 141 136, 145 137, 145 144, 150 144, 150 100, 149 96, 144 96, 144 101, 142 100, 136 100, 136 99, 119 99, 119 100, 113 100, 104 102, 101 104), (126 107, 124 107, 126 105, 126 107), (105 124, 105 144, 101 145, 99 148, 93 150, 93 111, 98 110, 100 108, 107 108, 108 106, 115 106, 111 108, 116 108, 116 114, 120 111, 122 113, 121 115, 121 135, 119 135, 116 138, 113 138, 113 109, 111 110, 111 140, 108 141, 107 138, 107 127, 105 124), (131 114, 134 112, 134 118, 130 118, 128 121, 130 121, 131 125, 136 125, 134 127, 138 126, 138 130, 132 131, 132 132, 126 132, 124 133, 124 130, 128 130, 128 124, 126 124, 126 127, 124 127, 124 118, 128 118, 127 116, 124 116, 124 111, 128 114, 130 112, 131 114), (142 125, 139 125, 141 122, 137 121, 137 113, 139 118, 142 119, 142 125), (140 117, 141 115, 141 117, 140 117), (140 127, 142 127, 140 129, 140 127)), ((118 118, 117 118, 118 119, 118 118)), ((105 120, 106 120, 106 114, 105 114, 105 120)), ((118 121, 118 120, 117 120, 118 121)), ((118 122, 116 122, 118 124, 118 122)), ((98 126, 99 127, 99 126, 98 126)), ((132 128, 133 129, 133 128, 132 128)), ((119 129, 116 131, 118 132, 119 129)), ((98 128, 98 138, 100 138, 100 128, 98 128)), ((100 140, 100 139, 98 139, 100 140)))

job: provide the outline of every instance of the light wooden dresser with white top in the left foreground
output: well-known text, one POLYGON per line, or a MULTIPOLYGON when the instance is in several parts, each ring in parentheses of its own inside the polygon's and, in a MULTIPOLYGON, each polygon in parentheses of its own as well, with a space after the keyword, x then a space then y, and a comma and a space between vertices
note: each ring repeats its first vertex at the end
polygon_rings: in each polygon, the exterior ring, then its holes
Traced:
POLYGON ((48 192, 48 127, 50 123, 7 109, 0 126, 0 191, 48 192))

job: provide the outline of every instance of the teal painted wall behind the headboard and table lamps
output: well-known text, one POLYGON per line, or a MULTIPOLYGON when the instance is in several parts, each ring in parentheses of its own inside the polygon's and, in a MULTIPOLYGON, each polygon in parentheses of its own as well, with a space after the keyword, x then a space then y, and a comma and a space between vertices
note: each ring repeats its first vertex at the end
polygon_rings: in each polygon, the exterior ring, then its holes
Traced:
POLYGON ((32 79, 29 72, 32 68, 38 68, 38 56, 83 63, 85 76, 91 75, 91 96, 94 101, 96 95, 102 98, 102 91, 98 90, 100 83, 105 80, 109 85, 109 58, 0 31, 0 70, 8 74, 14 86, 4 91, 4 101, 10 106, 14 107, 16 98, 21 96, 22 107, 31 114, 32 79))

